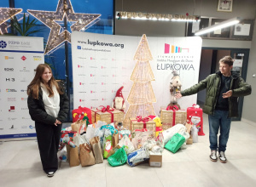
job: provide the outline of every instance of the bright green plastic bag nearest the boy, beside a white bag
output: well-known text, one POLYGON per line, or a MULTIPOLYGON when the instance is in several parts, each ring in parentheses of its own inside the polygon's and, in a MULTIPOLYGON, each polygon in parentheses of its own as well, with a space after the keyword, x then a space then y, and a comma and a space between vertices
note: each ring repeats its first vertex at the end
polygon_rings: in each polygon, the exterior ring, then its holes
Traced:
POLYGON ((172 139, 170 139, 167 144, 165 145, 166 150, 170 150, 172 153, 176 153, 177 150, 183 145, 183 143, 186 141, 186 139, 183 137, 183 135, 180 135, 179 133, 175 133, 172 136, 172 139))

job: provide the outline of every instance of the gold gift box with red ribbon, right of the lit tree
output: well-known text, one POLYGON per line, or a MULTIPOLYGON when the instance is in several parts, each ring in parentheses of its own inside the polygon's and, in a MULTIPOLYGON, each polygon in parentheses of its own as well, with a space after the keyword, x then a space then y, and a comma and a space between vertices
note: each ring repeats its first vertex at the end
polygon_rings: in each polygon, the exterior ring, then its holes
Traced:
POLYGON ((161 107, 160 118, 162 121, 162 128, 166 130, 176 124, 185 125, 187 121, 187 111, 178 110, 178 108, 174 106, 168 106, 167 108, 161 107))

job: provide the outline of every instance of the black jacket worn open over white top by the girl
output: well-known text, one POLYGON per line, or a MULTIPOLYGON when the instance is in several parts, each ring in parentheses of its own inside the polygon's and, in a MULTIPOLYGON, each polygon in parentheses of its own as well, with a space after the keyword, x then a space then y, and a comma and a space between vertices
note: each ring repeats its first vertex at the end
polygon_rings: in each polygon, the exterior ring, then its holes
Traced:
POLYGON ((33 99, 32 96, 28 96, 27 106, 29 109, 29 114, 33 121, 54 125, 56 119, 58 119, 60 122, 65 122, 67 120, 69 99, 65 92, 64 94, 60 94, 60 111, 57 118, 55 118, 54 116, 50 116, 45 111, 43 91, 41 88, 39 88, 38 99, 33 99))

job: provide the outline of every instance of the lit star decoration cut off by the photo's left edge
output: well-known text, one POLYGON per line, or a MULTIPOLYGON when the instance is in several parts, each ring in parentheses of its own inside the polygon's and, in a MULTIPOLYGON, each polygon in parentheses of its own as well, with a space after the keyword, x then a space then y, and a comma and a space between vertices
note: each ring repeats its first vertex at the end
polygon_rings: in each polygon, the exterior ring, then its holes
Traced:
POLYGON ((6 21, 21 11, 22 8, 0 8, 0 34, 8 32, 6 21))

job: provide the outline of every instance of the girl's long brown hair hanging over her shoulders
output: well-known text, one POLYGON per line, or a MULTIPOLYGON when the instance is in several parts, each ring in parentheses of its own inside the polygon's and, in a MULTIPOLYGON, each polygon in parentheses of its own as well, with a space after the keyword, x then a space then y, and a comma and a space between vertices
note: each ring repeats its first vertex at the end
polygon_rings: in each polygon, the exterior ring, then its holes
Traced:
MULTIPOLYGON (((47 64, 38 65, 35 77, 33 78, 32 82, 30 82, 30 84, 27 86, 26 94, 29 96, 32 96, 33 99, 38 99, 40 83, 41 82, 44 83, 42 80, 42 75, 44 73, 45 68, 48 68, 49 71, 52 73, 49 65, 47 65, 47 64)), ((53 75, 50 78, 49 82, 44 85, 49 92, 49 97, 52 97, 54 95, 54 92, 52 89, 53 85, 55 85, 59 94, 63 94, 63 91, 59 87, 58 82, 55 80, 55 77, 53 77, 53 75)))

